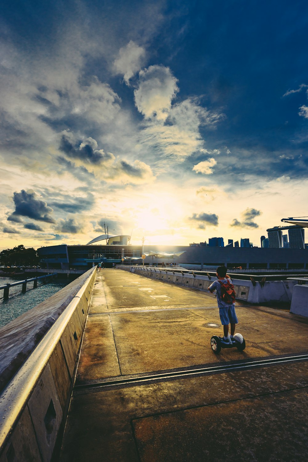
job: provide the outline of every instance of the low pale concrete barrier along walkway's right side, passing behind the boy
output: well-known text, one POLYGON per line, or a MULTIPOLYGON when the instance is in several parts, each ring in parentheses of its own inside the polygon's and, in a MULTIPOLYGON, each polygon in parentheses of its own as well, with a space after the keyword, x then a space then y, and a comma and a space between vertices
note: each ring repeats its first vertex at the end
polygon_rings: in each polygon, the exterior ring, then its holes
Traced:
MULTIPOLYGON (((191 287, 201 291, 208 291, 208 287, 216 280, 215 277, 197 274, 195 272, 185 273, 175 272, 170 269, 158 269, 157 267, 129 267, 127 265, 117 265, 117 268, 131 271, 155 280, 177 284, 179 286, 191 287)), ((292 299, 293 287, 296 281, 278 280, 266 281, 262 284, 260 281, 233 279, 232 283, 235 288, 236 298, 246 300, 248 303, 290 303, 292 299)))

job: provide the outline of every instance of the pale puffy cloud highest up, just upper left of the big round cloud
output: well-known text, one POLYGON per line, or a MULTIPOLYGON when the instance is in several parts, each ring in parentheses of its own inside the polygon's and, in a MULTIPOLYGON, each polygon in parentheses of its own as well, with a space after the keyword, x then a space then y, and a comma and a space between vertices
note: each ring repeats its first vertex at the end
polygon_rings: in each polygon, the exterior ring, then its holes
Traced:
POLYGON ((145 49, 130 40, 125 47, 120 48, 119 55, 113 63, 115 74, 121 74, 127 85, 129 79, 137 73, 145 63, 145 49))

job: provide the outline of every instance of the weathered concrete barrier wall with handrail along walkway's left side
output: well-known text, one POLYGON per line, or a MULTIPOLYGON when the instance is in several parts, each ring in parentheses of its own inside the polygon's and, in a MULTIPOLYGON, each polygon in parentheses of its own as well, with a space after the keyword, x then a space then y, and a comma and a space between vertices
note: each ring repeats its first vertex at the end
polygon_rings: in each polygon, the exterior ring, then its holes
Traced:
MULTIPOLYGON (((40 312, 49 323, 53 318, 39 341, 34 338, 27 343, 19 332, 17 362, 13 357, 9 361, 8 351, 3 355, 5 361, 1 355, 0 367, 6 377, 10 369, 14 373, 0 396, 0 462, 49 462, 59 449, 95 277, 96 267, 0 329, 7 342, 15 336, 18 344, 18 319, 19 324, 28 325, 28 335, 35 337, 46 326, 40 312), (20 364, 23 348, 27 358, 20 364)), ((16 348, 12 356, 15 353, 16 348)))

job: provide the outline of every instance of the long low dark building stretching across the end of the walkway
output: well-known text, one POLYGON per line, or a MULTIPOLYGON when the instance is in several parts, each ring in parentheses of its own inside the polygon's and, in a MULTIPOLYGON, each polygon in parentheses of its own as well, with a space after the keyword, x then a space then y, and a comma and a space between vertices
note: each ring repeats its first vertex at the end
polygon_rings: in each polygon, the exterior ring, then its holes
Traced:
MULTIPOLYGON (((121 263, 124 257, 141 257, 142 246, 137 245, 54 245, 37 249, 41 267, 48 268, 89 268, 103 262, 106 267, 121 263)), ((203 247, 203 246, 163 246, 145 245, 145 253, 185 251, 176 264, 197 264, 200 267, 226 265, 228 268, 294 268, 308 269, 308 249, 265 249, 259 247, 203 247)), ((164 260, 159 259, 159 264, 164 260)), ((133 263, 134 261, 132 261, 133 263)), ((151 256, 145 264, 156 264, 151 256)), ((168 263, 168 259, 164 261, 168 263)), ((130 261, 126 260, 129 264, 130 261)))

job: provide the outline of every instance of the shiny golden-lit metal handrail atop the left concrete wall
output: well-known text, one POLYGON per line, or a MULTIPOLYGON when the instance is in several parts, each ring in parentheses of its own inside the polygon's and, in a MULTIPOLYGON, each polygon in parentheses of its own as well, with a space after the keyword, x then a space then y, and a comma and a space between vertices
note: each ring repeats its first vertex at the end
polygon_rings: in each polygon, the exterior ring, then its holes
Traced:
MULTIPOLYGON (((92 278, 96 267, 91 269, 91 274, 85 280, 84 286, 92 278)), ((79 304, 81 297, 78 294, 80 293, 79 290, 0 395, 0 448, 10 437, 14 423, 23 412, 42 371, 60 341, 74 310, 79 304)))

